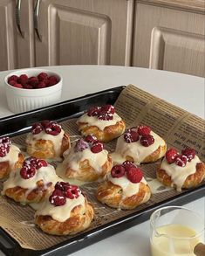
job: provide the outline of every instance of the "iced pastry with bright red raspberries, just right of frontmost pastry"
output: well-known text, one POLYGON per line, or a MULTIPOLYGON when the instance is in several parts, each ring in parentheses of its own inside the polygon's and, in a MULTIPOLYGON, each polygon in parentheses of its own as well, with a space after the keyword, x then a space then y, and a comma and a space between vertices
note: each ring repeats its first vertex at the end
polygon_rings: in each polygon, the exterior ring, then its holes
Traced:
POLYGON ((146 203, 150 197, 151 190, 142 171, 129 161, 113 166, 107 180, 99 183, 97 190, 101 203, 125 210, 146 203))

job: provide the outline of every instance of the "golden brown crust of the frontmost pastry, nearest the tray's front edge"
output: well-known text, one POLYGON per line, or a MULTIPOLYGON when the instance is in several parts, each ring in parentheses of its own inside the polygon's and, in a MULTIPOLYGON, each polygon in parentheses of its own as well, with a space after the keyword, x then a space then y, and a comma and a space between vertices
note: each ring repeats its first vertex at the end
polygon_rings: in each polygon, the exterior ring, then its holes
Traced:
POLYGON ((35 223, 43 232, 52 235, 72 235, 88 228, 93 217, 92 205, 85 200, 85 208, 82 205, 76 206, 72 209, 70 218, 64 222, 59 222, 48 215, 38 215, 35 218, 35 223))

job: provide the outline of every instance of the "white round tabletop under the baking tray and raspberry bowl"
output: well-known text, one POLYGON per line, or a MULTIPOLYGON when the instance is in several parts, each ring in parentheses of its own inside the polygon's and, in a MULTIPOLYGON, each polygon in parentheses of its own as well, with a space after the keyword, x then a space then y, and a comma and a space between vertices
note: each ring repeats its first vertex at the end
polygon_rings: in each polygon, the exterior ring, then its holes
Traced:
MULTIPOLYGON (((202 118, 205 116, 205 80, 181 73, 122 66, 50 66, 63 76, 61 100, 120 85, 133 84, 202 118)), ((0 72, 0 118, 12 114, 7 107, 3 78, 0 72)), ((184 206, 198 211, 205 218, 204 197, 184 206)), ((149 256, 149 223, 135 225, 124 232, 88 246, 72 256, 149 256)), ((3 255, 0 252, 0 255, 3 255)))

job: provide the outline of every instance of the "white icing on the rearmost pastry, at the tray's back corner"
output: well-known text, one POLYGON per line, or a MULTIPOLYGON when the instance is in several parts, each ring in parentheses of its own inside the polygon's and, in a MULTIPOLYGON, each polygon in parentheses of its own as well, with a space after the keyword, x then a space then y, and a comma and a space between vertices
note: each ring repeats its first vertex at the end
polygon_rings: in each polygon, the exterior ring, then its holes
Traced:
POLYGON ((88 116, 87 114, 83 114, 82 116, 80 116, 77 123, 85 122, 90 126, 97 126, 101 131, 103 131, 104 128, 110 125, 115 125, 118 121, 121 121, 121 118, 116 113, 113 114, 113 120, 109 121, 99 120, 98 116, 88 116))

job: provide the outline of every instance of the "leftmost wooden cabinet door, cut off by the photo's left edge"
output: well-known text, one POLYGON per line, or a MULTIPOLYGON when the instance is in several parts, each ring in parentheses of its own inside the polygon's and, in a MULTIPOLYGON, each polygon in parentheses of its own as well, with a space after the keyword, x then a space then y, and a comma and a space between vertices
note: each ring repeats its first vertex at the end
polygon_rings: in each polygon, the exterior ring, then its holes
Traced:
POLYGON ((32 0, 21 1, 20 24, 24 38, 17 31, 16 3, 0 1, 0 70, 33 66, 32 0))

